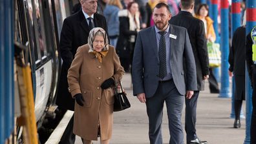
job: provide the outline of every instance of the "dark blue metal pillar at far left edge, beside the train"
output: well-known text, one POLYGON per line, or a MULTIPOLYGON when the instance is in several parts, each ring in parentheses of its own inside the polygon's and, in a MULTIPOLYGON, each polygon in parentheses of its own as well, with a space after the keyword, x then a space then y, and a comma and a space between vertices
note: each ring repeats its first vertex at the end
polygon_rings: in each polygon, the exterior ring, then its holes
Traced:
POLYGON ((0 143, 14 130, 13 3, 0 0, 0 143))

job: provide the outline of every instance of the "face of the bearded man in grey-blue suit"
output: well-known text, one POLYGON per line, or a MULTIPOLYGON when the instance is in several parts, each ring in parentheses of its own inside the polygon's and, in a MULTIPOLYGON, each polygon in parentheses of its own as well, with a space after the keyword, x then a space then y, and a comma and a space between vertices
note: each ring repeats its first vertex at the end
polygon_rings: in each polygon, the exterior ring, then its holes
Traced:
POLYGON ((164 30, 167 26, 168 21, 171 19, 171 13, 168 12, 165 6, 161 8, 155 8, 153 11, 153 20, 158 30, 164 30))

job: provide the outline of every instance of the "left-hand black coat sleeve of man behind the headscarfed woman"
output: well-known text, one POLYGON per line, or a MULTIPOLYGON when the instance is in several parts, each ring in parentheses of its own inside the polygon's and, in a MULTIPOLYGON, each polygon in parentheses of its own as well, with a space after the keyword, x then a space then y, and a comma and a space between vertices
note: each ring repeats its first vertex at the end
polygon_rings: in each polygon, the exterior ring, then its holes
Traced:
POLYGON ((73 60, 72 54, 72 25, 70 25, 70 21, 65 19, 63 21, 63 26, 61 30, 61 37, 59 41, 59 51, 61 54, 61 58, 63 60, 63 67, 69 70, 69 67, 73 60))

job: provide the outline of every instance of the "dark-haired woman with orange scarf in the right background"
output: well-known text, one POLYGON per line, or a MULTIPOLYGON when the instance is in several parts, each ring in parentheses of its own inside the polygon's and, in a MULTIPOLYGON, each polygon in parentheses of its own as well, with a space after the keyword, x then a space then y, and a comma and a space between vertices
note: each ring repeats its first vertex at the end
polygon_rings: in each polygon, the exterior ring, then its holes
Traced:
MULTIPOLYGON (((207 41, 214 43, 216 40, 216 35, 213 28, 213 20, 209 17, 208 11, 209 11, 208 5, 200 4, 198 5, 198 9, 195 17, 197 17, 198 19, 201 19, 204 22, 204 30, 206 31, 207 41)), ((217 79, 213 75, 213 68, 210 67, 209 72, 210 74, 209 74, 208 81, 209 81, 210 92, 219 94, 220 92, 219 85, 218 85, 217 79)))

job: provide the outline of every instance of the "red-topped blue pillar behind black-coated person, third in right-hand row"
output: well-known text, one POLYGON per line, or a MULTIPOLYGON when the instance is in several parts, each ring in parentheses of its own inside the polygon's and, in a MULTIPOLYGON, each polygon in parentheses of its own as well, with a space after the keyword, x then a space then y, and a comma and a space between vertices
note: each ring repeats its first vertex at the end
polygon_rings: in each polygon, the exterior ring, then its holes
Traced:
MULTIPOLYGON (((231 5, 231 37, 233 37, 233 34, 235 30, 241 25, 241 10, 240 10, 240 0, 232 0, 231 5)), ((234 103, 235 103, 235 79, 232 77, 232 102, 231 102, 231 114, 230 118, 235 118, 235 110, 234 110, 234 103)), ((244 112, 240 112, 240 118, 244 117, 244 112)))

